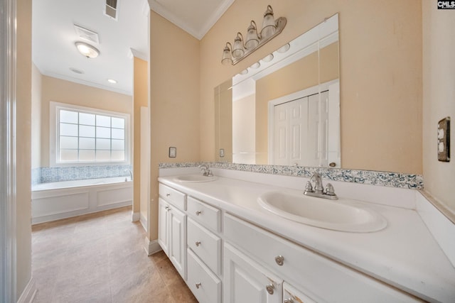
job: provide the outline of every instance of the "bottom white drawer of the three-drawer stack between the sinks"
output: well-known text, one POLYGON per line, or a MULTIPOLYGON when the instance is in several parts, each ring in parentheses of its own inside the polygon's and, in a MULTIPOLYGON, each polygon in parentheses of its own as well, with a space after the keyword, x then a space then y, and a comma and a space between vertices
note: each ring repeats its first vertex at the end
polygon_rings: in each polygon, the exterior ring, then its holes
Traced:
POLYGON ((200 303, 221 302, 221 281, 188 249, 188 287, 200 303))

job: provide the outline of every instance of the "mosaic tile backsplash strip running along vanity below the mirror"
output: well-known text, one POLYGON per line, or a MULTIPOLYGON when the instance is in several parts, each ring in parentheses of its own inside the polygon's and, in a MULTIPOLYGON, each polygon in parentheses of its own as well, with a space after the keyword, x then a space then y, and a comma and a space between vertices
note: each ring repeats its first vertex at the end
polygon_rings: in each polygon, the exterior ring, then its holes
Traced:
POLYGON ((323 179, 341 182, 354 182, 386 187, 401 187, 409 189, 423 189, 422 175, 402 174, 399 172, 378 172, 374 170, 345 170, 340 168, 303 167, 284 165, 252 165, 234 164, 227 162, 183 162, 160 163, 159 168, 195 167, 200 164, 225 170, 241 170, 245 172, 260 172, 272 175, 287 175, 294 177, 311 177, 319 172, 323 179))

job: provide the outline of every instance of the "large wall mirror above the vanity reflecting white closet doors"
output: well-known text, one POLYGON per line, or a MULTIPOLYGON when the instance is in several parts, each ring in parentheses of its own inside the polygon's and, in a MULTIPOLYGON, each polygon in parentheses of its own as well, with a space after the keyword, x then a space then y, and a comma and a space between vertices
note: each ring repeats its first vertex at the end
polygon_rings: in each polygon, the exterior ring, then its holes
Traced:
POLYGON ((341 167, 338 14, 215 87, 215 160, 341 167))

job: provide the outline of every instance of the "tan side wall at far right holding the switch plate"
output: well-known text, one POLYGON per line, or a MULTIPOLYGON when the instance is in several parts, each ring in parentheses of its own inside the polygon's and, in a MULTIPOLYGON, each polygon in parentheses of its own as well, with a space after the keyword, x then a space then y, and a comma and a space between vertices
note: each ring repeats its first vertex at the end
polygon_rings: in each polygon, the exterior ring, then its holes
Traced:
POLYGON ((454 11, 422 1, 423 12, 423 162, 425 190, 455 216, 455 28, 454 11), (451 117, 451 161, 437 160, 438 121, 451 117))

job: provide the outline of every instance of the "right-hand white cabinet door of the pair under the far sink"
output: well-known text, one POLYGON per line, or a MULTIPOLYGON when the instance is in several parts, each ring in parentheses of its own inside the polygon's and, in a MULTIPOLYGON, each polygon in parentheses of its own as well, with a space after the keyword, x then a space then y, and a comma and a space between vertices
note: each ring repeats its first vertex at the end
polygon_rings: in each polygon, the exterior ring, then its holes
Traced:
POLYGON ((173 206, 168 211, 169 254, 176 270, 186 280, 186 215, 173 206))

